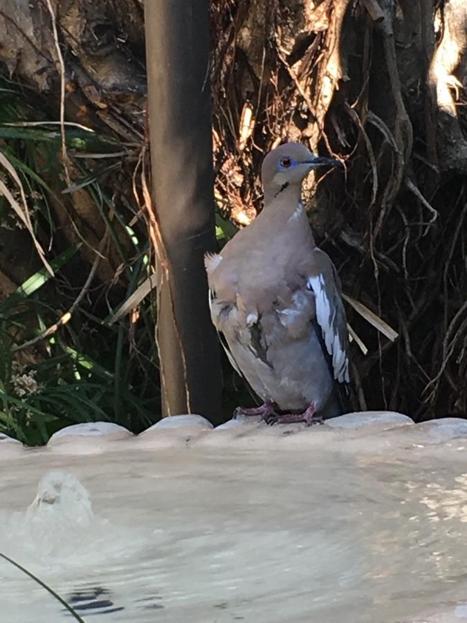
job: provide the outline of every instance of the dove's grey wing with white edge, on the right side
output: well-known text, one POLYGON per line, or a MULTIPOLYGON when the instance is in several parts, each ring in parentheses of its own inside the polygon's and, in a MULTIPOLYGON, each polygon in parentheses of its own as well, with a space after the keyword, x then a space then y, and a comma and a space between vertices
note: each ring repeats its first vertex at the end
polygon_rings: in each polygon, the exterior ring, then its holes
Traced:
POLYGON ((333 377, 338 383, 349 383, 349 334, 340 280, 329 256, 320 249, 313 251, 313 271, 306 287, 315 295, 322 349, 330 359, 333 377))

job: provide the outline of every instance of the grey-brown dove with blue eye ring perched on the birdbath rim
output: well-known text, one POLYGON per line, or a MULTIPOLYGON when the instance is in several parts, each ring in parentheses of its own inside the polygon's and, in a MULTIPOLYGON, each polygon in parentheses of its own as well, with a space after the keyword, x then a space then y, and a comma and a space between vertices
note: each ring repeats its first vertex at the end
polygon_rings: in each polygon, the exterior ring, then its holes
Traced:
POLYGON ((315 244, 301 199, 313 170, 342 166, 302 143, 262 164, 264 207, 221 249, 206 253, 212 323, 233 368, 262 399, 234 417, 307 426, 345 412, 349 334, 340 280, 315 244))

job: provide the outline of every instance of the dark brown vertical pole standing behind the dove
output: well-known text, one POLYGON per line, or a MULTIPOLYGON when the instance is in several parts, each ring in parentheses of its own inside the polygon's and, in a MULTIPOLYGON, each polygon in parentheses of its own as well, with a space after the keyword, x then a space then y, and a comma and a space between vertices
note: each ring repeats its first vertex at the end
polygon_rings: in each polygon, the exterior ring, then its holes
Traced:
POLYGON ((145 0, 145 30, 152 190, 170 269, 158 311, 163 414, 216 423, 219 345, 203 266, 215 247, 209 0, 145 0))

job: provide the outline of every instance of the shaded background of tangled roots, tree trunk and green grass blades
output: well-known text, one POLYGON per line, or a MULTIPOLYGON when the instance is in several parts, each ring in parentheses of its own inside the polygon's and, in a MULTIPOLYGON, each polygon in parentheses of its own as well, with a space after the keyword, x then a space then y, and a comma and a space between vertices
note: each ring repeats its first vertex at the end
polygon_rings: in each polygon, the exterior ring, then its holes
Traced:
MULTIPOLYGON (((277 143, 345 163, 314 197, 309 180, 311 224, 345 294, 399 334, 347 305, 367 348, 352 346, 356 408, 467 413, 466 32, 463 0, 211 3, 219 245, 260 209, 277 143)), ((0 181, 22 206, 19 176, 55 270, 0 197, 0 431, 30 443, 89 419, 140 431, 161 415, 143 4, 4 0, 0 40, 13 169, 2 163, 0 181)), ((223 383, 227 419, 248 395, 228 365, 223 383)))

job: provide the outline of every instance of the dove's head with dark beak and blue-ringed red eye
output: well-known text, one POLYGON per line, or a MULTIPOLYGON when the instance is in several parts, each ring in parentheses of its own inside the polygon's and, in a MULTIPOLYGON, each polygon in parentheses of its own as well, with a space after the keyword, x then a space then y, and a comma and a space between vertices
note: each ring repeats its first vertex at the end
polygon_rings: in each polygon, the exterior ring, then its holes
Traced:
POLYGON ((318 167, 342 166, 338 160, 315 156, 302 143, 284 143, 268 153, 263 161, 265 195, 276 195, 287 186, 300 186, 309 172, 318 167))

